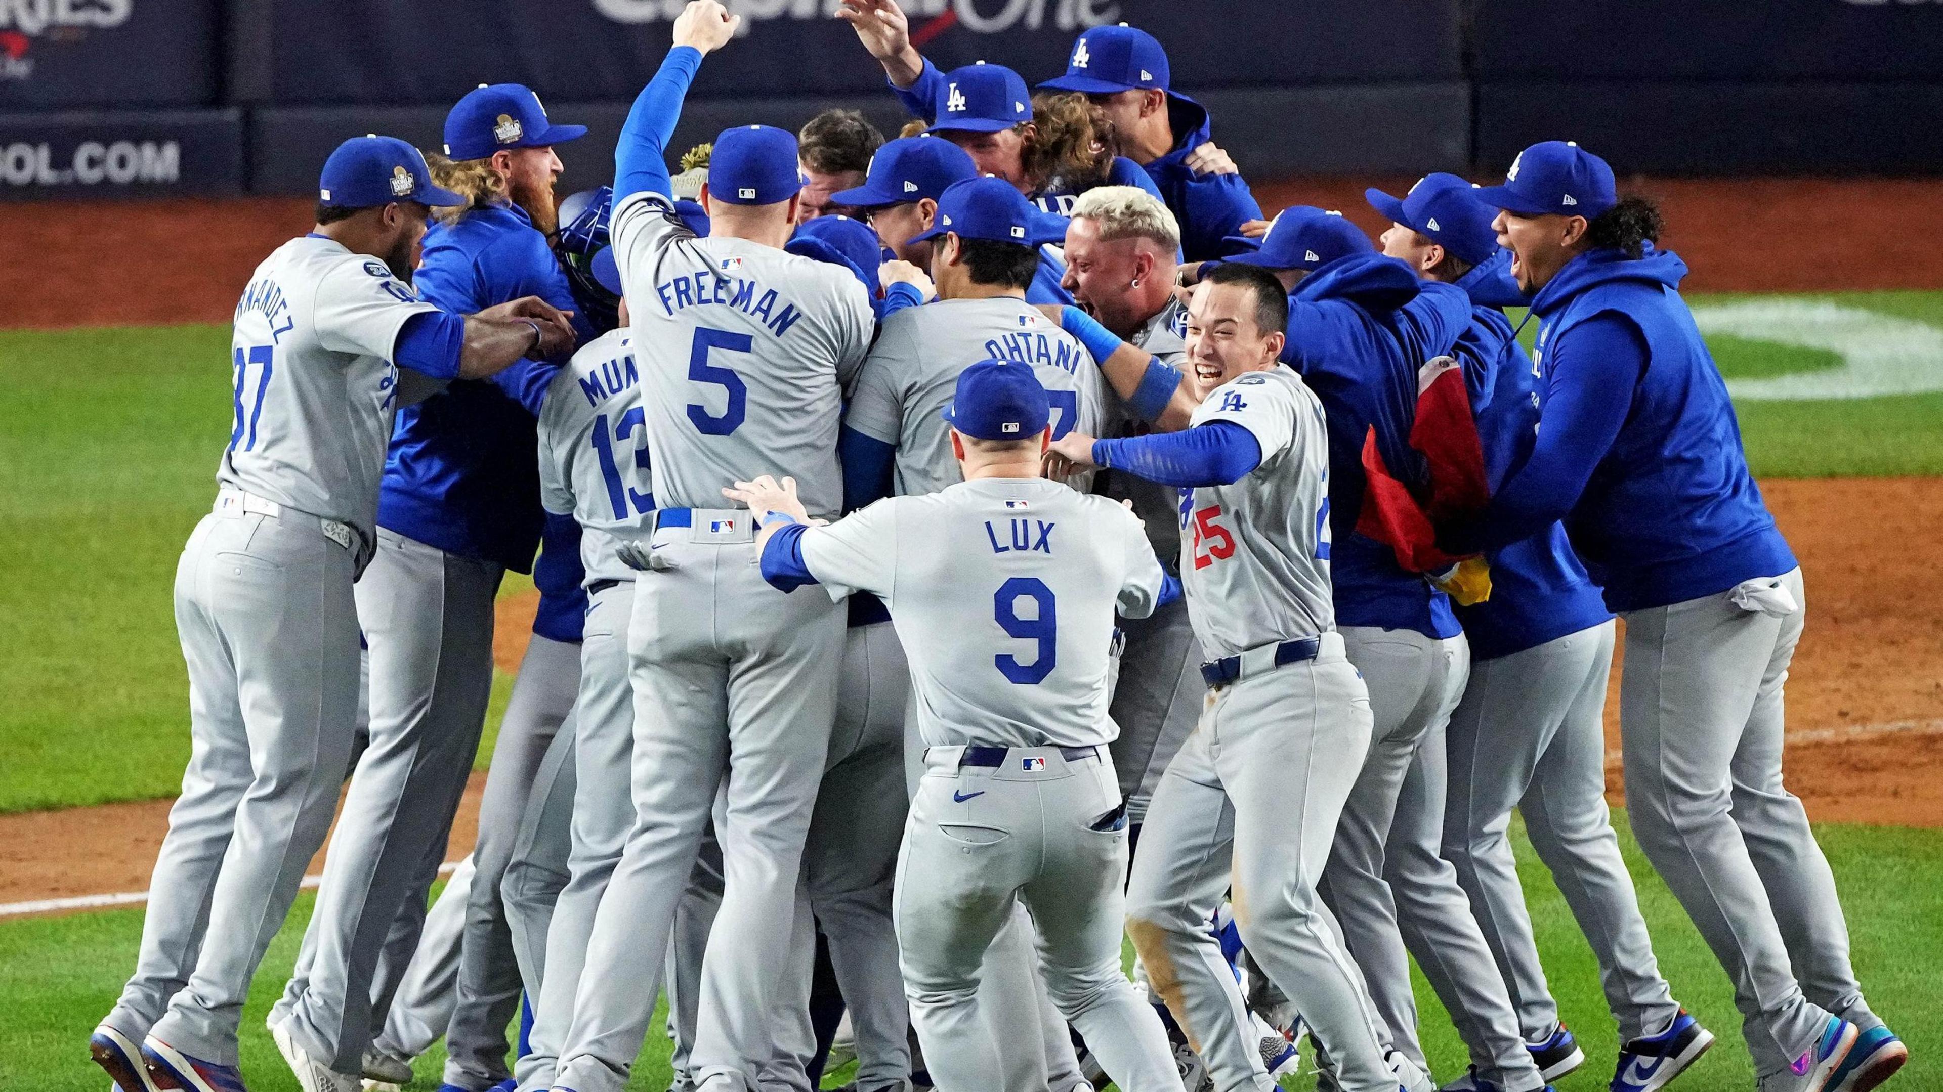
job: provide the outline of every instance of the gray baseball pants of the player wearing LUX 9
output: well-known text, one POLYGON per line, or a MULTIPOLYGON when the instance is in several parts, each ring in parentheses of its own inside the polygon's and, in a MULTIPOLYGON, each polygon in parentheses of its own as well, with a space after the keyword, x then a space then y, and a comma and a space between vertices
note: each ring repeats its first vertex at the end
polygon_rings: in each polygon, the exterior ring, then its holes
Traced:
POLYGON ((1127 822, 1111 760, 1008 748, 987 768, 962 754, 929 748, 898 855, 903 989, 933 1080, 983 1092, 1016 1049, 979 1012, 979 968, 1024 904, 1047 991, 1100 1065, 1127 1092, 1179 1088, 1160 1018, 1119 970, 1127 822))

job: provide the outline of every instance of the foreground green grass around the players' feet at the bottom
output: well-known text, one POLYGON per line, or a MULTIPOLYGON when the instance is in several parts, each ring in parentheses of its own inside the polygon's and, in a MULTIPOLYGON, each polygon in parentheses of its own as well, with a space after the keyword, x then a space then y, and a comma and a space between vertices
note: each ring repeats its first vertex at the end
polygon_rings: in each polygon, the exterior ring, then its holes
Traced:
MULTIPOLYGON (((1749 1088, 1753 1071, 1741 1045, 1741 1020, 1733 1010, 1727 977, 1665 884, 1646 867, 1624 828, 1624 814, 1615 814, 1615 826, 1620 828, 1640 905, 1653 931, 1659 970, 1673 983, 1675 997, 1718 1036, 1718 1045, 1681 1078, 1679 1088, 1749 1088)), ((1821 826, 1817 834, 1846 896, 1856 972, 1867 987, 1869 1003, 1910 1045, 1912 1061, 1889 1088, 1939 1088, 1943 999, 1933 989, 1933 975, 1943 960, 1943 841, 1935 832, 1904 828, 1821 826)), ((1523 841, 1521 826, 1516 828, 1516 837, 1545 970, 1560 1012, 1587 1057, 1578 1073, 1558 1082, 1558 1090, 1597 1092, 1613 1076, 1617 1051, 1613 1018, 1599 993, 1599 970, 1564 900, 1523 841)), ((297 1088, 262 1018, 290 975, 309 911, 311 896, 305 894, 272 944, 243 1010, 243 1075, 255 1092, 297 1088)), ((87 1061, 87 1032, 115 1003, 134 966, 140 931, 140 909, 0 923, 0 997, 10 1003, 10 1018, 0 1022, 0 1088, 101 1090, 101 1071, 87 1061)), ((1465 1051, 1422 977, 1416 979, 1416 997, 1424 1051, 1436 1076, 1461 1076, 1465 1051)), ((663 1028, 657 1014, 635 1065, 631 1090, 661 1092, 668 1086, 668 1040, 663 1028)), ((441 1065, 443 1049, 433 1047, 418 1061, 416 1086, 435 1088, 441 1065)), ((830 1075, 824 1084, 839 1086, 847 1078, 845 1069, 830 1075)), ((1313 1076, 1308 1073, 1284 1080, 1284 1088, 1312 1086, 1313 1076)))

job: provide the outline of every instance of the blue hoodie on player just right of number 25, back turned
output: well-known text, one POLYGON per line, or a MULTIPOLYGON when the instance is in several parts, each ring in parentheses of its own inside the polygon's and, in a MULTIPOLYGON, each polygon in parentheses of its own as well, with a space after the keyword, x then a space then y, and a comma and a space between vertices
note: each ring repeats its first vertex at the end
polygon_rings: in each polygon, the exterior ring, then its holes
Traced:
POLYGON ((1416 373, 1444 356, 1471 324, 1461 288, 1422 282, 1383 255, 1345 255, 1306 276, 1288 297, 1282 361, 1302 373, 1329 422, 1329 569, 1337 626, 1415 630, 1455 637, 1449 597, 1420 573, 1397 565, 1395 552, 1356 532, 1366 476, 1362 443, 1376 429, 1383 462, 1399 478, 1422 480, 1411 447, 1416 373))

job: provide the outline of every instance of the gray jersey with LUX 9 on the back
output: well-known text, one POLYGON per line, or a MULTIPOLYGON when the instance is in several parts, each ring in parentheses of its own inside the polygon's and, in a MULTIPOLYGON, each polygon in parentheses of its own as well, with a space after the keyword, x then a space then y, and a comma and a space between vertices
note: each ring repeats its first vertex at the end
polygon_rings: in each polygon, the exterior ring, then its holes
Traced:
POLYGON ((1111 742, 1113 606, 1144 618, 1164 583, 1133 513, 1036 478, 878 501, 806 530, 802 560, 890 608, 929 746, 1111 742))

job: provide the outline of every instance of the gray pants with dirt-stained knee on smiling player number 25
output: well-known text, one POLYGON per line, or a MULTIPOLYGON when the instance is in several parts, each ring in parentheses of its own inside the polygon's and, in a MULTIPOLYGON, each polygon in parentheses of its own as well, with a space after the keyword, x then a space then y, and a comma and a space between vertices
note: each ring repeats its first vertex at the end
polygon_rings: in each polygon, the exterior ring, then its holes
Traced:
POLYGON ((1220 1092, 1275 1086, 1209 933, 1230 888, 1242 942, 1300 1007, 1345 1092, 1395 1092, 1376 1014, 1315 892, 1354 756, 1368 748, 1368 692, 1341 639, 1325 633, 1313 661, 1210 688, 1201 725, 1160 779, 1133 861, 1127 933, 1220 1092))

